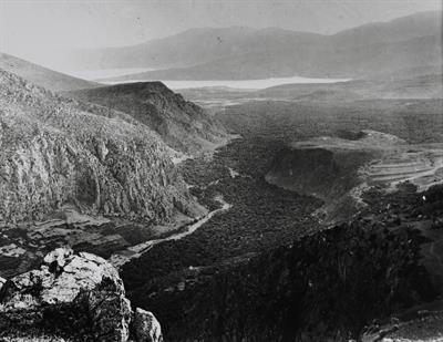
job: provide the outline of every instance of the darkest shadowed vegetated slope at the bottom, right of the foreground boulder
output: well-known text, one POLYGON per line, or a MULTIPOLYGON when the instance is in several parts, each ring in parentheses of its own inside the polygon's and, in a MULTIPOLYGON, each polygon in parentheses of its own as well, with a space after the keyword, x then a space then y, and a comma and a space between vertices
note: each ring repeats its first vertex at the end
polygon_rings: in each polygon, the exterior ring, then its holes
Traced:
POLYGON ((145 287, 134 300, 165 322, 169 341, 343 341, 435 296, 418 262, 421 240, 362 220, 217 270, 189 270, 173 288, 145 287))

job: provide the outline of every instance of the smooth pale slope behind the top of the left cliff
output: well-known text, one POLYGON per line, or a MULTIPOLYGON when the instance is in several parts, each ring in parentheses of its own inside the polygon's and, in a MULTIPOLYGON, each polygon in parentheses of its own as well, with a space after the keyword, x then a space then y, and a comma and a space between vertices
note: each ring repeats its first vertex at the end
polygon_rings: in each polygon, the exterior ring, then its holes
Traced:
POLYGON ((97 83, 72 77, 1 52, 0 69, 55 92, 99 86, 97 83))

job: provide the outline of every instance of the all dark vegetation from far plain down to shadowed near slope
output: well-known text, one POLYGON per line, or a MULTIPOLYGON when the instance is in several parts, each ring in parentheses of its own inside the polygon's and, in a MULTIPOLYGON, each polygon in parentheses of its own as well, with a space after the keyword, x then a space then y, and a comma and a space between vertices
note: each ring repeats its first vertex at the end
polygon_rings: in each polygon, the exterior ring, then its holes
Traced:
POLYGON ((440 142, 440 104, 275 102, 226 110, 222 120, 243 138, 212 158, 187 160, 183 173, 200 203, 217 208, 214 197, 223 195, 233 207, 126 265, 128 297, 156 313, 169 341, 343 341, 374 318, 432 300, 435 282, 420 260, 426 239, 416 228, 439 205, 440 190, 424 195, 436 198, 430 203, 410 185, 387 196, 373 188, 360 217, 321 230, 312 215, 320 200, 264 176, 288 142, 342 136, 341 129, 440 142))

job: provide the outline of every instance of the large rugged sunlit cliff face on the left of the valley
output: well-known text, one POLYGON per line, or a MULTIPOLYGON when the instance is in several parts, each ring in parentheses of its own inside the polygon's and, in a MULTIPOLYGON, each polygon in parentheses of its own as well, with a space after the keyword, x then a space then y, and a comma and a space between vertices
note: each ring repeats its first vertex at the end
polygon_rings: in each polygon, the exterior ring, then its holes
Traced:
POLYGON ((128 115, 0 70, 0 221, 85 213, 168 220, 194 205, 166 145, 128 115))

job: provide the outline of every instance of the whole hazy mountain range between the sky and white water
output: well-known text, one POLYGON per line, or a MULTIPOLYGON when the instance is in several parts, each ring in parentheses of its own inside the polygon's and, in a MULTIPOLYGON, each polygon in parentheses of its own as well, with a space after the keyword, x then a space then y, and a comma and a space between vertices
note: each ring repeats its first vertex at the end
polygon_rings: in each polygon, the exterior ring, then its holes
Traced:
POLYGON ((153 68, 128 80, 361 77, 442 63, 442 15, 422 12, 332 35, 277 28, 193 29, 144 44, 82 51, 89 68, 153 68))

